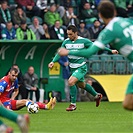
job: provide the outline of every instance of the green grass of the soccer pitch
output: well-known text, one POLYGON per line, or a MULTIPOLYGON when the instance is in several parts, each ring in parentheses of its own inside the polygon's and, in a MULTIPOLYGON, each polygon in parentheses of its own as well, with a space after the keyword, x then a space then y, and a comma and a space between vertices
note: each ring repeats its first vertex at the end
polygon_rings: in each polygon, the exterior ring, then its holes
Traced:
MULTIPOLYGON (((102 102, 96 108, 94 102, 78 102, 77 110, 65 111, 69 103, 57 103, 54 110, 39 110, 30 114, 29 133, 132 133, 133 114, 122 108, 122 103, 102 102)), ((26 108, 16 111, 26 113, 26 108)), ((20 132, 16 124, 2 119, 20 132)))

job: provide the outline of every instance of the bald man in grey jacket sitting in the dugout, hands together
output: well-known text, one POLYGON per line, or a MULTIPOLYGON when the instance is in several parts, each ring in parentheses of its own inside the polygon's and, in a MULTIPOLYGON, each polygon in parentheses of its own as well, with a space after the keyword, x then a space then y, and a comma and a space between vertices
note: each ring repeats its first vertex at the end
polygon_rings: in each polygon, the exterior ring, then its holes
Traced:
POLYGON ((36 95, 36 101, 39 101, 40 94, 38 88, 38 76, 34 72, 34 67, 30 66, 28 71, 24 74, 24 84, 26 87, 26 97, 28 98, 28 94, 30 92, 30 99, 32 100, 33 91, 36 95))

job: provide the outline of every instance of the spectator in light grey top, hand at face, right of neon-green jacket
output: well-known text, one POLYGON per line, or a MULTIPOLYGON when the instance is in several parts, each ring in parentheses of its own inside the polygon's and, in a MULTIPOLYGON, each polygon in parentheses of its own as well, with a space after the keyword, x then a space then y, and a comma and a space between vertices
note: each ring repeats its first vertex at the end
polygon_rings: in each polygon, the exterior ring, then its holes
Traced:
POLYGON ((39 24, 39 20, 37 17, 33 18, 33 24, 30 25, 29 28, 34 32, 37 40, 40 40, 41 36, 44 35, 43 26, 39 24))

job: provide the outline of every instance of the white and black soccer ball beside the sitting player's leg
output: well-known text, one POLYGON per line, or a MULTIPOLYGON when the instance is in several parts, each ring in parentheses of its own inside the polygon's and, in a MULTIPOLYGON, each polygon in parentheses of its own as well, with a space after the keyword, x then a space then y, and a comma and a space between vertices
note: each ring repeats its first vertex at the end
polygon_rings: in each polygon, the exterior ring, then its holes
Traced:
POLYGON ((31 103, 28 105, 27 110, 30 114, 35 114, 35 113, 38 113, 39 106, 36 103, 31 103))

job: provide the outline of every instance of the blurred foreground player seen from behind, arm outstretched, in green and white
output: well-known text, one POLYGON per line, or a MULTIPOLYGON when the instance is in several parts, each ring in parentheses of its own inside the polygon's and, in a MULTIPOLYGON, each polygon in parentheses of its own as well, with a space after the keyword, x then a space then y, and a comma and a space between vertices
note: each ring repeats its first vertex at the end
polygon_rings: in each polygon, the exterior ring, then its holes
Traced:
MULTIPOLYGON (((100 2, 98 12, 106 27, 101 31, 94 44, 88 49, 77 51, 60 48, 59 54, 61 56, 74 55, 88 58, 98 50, 103 49, 105 44, 110 43, 121 55, 133 62, 133 21, 130 18, 116 17, 114 4, 107 0, 100 2)), ((133 110, 133 77, 127 86, 123 107, 133 110)))

